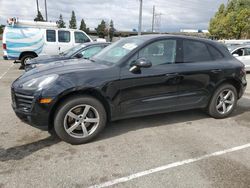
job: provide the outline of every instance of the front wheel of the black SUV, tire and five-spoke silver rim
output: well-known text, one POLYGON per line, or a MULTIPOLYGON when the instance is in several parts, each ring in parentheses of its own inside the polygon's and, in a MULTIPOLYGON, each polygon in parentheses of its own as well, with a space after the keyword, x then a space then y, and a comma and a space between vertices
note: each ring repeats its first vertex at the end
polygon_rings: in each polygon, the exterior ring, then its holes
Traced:
POLYGON ((106 111, 97 99, 74 96, 57 109, 54 129, 63 141, 74 145, 83 144, 94 139, 103 130, 106 122, 106 111))

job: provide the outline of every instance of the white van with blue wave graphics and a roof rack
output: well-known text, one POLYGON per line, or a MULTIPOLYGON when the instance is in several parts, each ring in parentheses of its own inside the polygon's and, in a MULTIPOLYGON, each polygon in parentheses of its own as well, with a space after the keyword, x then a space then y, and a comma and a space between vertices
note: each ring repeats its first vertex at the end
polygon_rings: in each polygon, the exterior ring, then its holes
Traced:
POLYGON ((39 55, 58 55, 85 42, 92 42, 92 39, 81 30, 59 29, 51 22, 11 18, 3 33, 4 59, 25 64, 39 55))

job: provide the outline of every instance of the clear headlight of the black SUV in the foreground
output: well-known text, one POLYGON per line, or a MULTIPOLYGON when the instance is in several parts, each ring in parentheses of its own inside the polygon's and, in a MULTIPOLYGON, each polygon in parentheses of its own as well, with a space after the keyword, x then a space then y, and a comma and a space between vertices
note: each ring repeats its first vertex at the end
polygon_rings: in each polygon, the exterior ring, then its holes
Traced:
POLYGON ((34 78, 22 84, 22 88, 25 90, 41 90, 48 87, 57 78, 57 74, 45 75, 39 78, 34 78))

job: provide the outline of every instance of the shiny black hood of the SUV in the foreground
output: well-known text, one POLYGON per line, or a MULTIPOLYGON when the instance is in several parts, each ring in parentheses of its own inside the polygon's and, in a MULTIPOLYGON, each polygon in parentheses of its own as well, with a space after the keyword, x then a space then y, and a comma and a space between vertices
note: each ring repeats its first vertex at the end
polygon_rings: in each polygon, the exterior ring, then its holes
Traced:
POLYGON ((25 72, 19 79, 32 79, 43 75, 49 74, 66 74, 66 73, 77 73, 83 71, 94 71, 99 69, 106 69, 109 66, 95 63, 87 59, 70 59, 63 61, 56 61, 49 63, 48 65, 37 67, 28 72, 25 72))

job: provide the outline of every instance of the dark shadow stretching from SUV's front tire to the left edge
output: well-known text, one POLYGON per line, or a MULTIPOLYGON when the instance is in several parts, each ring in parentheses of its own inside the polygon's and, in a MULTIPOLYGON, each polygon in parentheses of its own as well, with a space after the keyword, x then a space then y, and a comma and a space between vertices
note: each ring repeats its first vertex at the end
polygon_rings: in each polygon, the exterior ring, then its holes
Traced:
POLYGON ((50 147, 59 142, 60 140, 58 138, 54 136, 49 136, 45 139, 38 140, 36 142, 32 142, 21 146, 15 146, 8 149, 3 149, 0 147, 0 161, 5 162, 9 160, 21 160, 38 150, 50 147))

